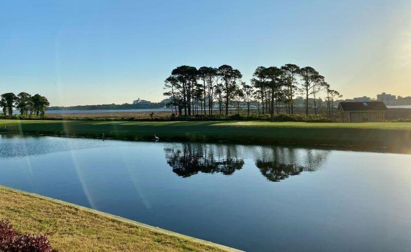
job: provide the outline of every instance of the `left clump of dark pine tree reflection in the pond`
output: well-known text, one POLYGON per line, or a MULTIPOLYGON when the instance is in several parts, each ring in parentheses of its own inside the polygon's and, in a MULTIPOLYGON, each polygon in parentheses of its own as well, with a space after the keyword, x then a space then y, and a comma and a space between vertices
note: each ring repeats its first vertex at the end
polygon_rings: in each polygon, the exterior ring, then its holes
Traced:
POLYGON ((184 178, 198 172, 232 175, 244 165, 233 145, 176 143, 164 151, 167 164, 184 178))

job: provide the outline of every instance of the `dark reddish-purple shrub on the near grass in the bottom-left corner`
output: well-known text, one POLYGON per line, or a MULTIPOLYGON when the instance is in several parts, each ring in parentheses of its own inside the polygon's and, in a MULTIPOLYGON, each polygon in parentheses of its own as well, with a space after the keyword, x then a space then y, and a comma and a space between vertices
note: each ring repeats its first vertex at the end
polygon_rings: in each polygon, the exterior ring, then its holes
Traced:
POLYGON ((45 236, 17 235, 8 220, 0 221, 0 251, 51 252, 51 245, 45 236))

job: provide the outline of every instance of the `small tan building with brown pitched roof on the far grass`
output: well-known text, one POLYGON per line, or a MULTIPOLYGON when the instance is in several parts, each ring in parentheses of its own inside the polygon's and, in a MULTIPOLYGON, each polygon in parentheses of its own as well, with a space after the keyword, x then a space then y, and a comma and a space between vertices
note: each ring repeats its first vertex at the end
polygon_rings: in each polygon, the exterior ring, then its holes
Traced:
POLYGON ((383 102, 340 102, 340 122, 382 122, 387 107, 383 102))

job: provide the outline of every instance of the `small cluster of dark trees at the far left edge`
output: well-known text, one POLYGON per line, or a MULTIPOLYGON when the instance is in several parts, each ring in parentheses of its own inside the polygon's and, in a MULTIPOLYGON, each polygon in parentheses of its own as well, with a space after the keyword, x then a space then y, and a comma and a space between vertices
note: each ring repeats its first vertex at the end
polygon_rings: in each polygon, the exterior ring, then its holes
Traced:
POLYGON ((4 93, 1 95, 0 107, 3 108, 3 114, 6 116, 13 115, 13 107, 20 110, 21 115, 40 115, 44 116, 46 108, 50 106, 47 98, 40 94, 30 95, 26 92, 21 92, 17 95, 14 93, 4 93))

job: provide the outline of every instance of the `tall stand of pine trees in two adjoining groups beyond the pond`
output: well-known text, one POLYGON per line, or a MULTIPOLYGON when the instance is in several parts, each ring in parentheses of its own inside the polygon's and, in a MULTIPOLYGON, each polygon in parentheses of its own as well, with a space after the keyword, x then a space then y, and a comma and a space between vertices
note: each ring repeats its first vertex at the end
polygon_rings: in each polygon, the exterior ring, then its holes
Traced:
POLYGON ((218 68, 179 66, 165 80, 164 95, 171 98, 171 105, 178 109, 179 115, 194 115, 199 111, 213 113, 213 103, 219 106, 219 113, 228 114, 230 104, 239 108, 241 102, 247 104, 250 113, 250 103, 257 102, 261 112, 279 112, 279 107, 285 107, 287 113, 293 113, 293 101, 296 93, 304 94, 306 114, 309 112, 309 97, 314 98, 314 113, 316 98, 324 92, 327 102, 327 112, 331 113, 332 101, 342 95, 330 88, 318 71, 312 67, 299 67, 286 64, 282 67, 257 67, 250 85, 241 81, 239 70, 229 65, 218 68), (200 110, 198 109, 200 108, 200 110))

